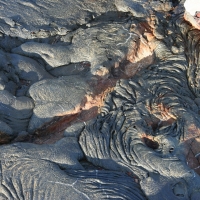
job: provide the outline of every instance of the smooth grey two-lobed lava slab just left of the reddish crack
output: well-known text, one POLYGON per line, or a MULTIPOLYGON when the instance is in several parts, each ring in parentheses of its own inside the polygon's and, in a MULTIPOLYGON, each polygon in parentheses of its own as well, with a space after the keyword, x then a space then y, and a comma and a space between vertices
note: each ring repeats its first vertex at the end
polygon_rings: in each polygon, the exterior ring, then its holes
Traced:
POLYGON ((35 102, 35 108, 28 130, 36 130, 54 116, 79 112, 89 92, 90 88, 81 76, 63 76, 33 84, 29 94, 35 102))

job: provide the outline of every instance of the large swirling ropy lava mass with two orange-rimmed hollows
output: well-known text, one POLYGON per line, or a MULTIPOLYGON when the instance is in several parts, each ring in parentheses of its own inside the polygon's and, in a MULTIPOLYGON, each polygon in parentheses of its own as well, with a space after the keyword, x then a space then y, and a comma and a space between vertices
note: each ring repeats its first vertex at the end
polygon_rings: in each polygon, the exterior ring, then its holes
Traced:
POLYGON ((191 67, 182 51, 174 55, 164 43, 156 42, 155 56, 159 62, 118 81, 79 142, 94 165, 137 175, 149 199, 189 199, 200 190, 199 175, 183 156, 185 141, 200 128, 197 95, 187 84, 191 67))

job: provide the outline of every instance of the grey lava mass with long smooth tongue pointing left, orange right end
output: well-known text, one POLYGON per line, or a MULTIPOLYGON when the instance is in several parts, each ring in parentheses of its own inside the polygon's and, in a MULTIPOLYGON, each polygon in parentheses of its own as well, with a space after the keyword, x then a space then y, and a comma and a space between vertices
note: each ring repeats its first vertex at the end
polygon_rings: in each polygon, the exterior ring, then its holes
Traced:
POLYGON ((143 58, 152 56, 145 39, 131 32, 130 26, 123 20, 116 23, 91 23, 87 29, 79 28, 73 33, 70 45, 28 42, 14 48, 12 52, 42 58, 48 69, 87 61, 91 65, 91 73, 96 75, 102 68, 109 72, 122 61, 130 62, 129 55, 134 56, 132 51, 139 49, 141 43, 146 46, 143 58))

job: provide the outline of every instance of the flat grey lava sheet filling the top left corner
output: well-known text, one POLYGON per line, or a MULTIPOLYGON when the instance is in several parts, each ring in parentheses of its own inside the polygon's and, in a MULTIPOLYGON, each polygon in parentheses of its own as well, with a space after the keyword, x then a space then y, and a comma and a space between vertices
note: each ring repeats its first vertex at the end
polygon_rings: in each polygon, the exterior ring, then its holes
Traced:
POLYGON ((88 23, 93 17, 116 11, 113 2, 100 0, 95 2, 7 0, 6 3, 1 3, 1 8, 3 9, 0 14, 2 32, 24 39, 62 36, 77 28, 77 25, 88 23), (21 12, 22 9, 24 12, 21 12))

